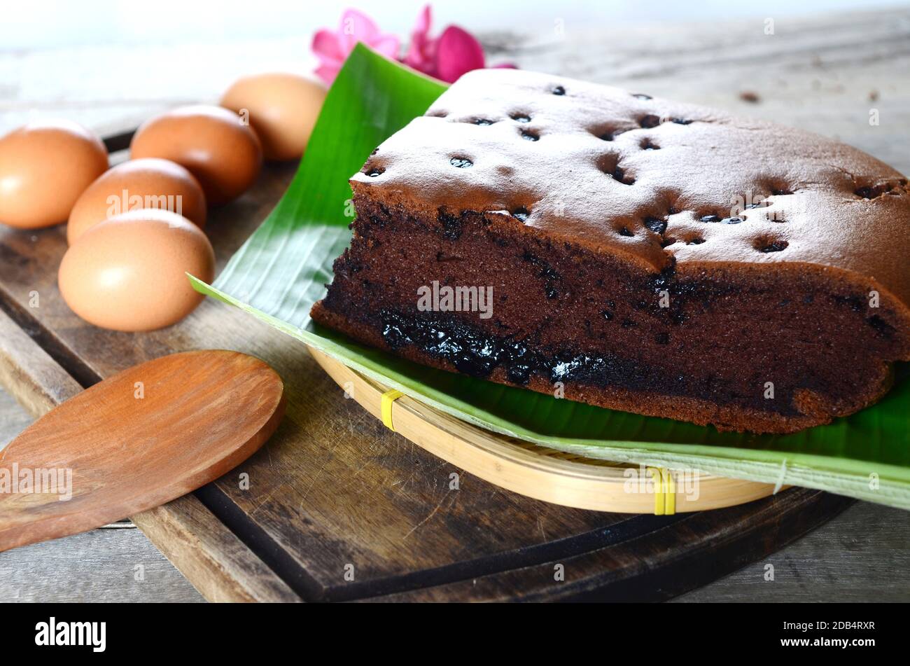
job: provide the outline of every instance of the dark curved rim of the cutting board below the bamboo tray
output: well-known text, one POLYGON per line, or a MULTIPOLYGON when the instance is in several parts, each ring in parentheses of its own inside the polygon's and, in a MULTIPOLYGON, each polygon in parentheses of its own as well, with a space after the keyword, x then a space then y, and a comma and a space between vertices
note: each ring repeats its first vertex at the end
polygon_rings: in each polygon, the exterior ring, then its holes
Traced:
MULTIPOLYGON (((516 570, 490 573, 438 586, 361 598, 357 602, 654 602, 671 600, 685 592, 774 554, 817 529, 856 500, 824 490, 793 488, 757 507, 740 505, 733 513, 737 529, 715 530, 714 511, 687 514, 684 529, 697 541, 682 557, 669 547, 668 530, 654 530, 634 541, 549 560, 516 570), (651 553, 638 569, 616 567, 628 555, 630 544, 651 553), (563 578, 554 579, 561 565, 563 578)), ((656 517, 655 517, 656 518, 656 517)))

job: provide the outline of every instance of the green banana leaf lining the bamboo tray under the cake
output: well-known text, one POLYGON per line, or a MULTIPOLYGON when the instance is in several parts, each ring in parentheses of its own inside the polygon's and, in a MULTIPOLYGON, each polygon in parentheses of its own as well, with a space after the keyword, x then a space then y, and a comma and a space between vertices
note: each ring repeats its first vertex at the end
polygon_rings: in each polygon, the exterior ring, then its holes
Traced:
POLYGON ((194 287, 451 415, 584 456, 825 489, 910 509, 907 366, 885 399, 786 436, 720 433, 555 399, 410 363, 315 325, 309 308, 348 245, 348 178, 445 86, 359 45, 334 85, 285 196, 214 286, 194 287))

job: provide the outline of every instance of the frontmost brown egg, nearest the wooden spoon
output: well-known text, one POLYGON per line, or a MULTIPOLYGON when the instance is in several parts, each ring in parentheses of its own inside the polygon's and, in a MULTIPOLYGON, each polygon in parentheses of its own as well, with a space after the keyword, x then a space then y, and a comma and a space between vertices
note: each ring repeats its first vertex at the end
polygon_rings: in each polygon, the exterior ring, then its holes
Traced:
POLYGON ((186 273, 210 282, 215 254, 186 217, 144 209, 99 222, 66 250, 57 283, 72 310, 114 330, 163 328, 202 300, 186 273))

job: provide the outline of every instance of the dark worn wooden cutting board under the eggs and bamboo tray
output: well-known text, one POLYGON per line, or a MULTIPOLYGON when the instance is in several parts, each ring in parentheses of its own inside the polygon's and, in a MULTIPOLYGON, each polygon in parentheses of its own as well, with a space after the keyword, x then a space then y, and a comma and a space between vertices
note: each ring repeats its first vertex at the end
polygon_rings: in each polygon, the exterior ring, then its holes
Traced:
MULTIPOLYGON (((127 142, 108 139, 112 150, 127 142)), ((237 204, 213 211, 207 233, 219 268, 292 173, 268 167, 237 204)), ((664 517, 532 500, 389 431, 345 399, 304 345, 236 308, 207 299, 177 326, 142 334, 86 324, 56 288, 65 250, 63 227, 0 229, 0 379, 33 413, 192 348, 252 354, 285 381, 287 414, 262 450, 193 495, 133 517, 210 600, 662 599, 779 548, 850 503, 790 489, 664 517)))

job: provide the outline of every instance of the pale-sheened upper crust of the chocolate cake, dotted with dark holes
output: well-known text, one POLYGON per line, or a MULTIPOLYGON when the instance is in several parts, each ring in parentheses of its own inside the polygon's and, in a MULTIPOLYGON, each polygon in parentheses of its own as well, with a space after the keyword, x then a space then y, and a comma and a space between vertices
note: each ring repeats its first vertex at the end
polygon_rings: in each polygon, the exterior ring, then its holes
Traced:
POLYGON ((652 272, 834 268, 910 304, 904 176, 823 136, 703 106, 477 70, 351 184, 430 215, 483 211, 652 272))

